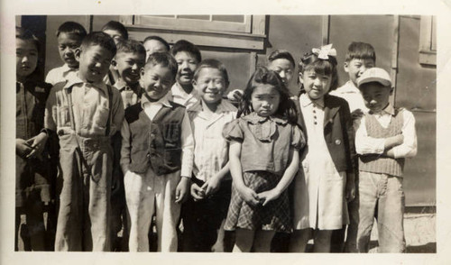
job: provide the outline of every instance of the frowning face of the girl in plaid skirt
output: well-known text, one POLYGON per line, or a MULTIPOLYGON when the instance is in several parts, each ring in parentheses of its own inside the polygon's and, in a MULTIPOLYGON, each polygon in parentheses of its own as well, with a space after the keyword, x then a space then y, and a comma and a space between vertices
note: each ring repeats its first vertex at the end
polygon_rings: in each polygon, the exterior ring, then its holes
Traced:
POLYGON ((271 116, 277 112, 281 102, 281 94, 276 87, 269 84, 257 84, 253 88, 251 103, 253 111, 262 117, 271 116))

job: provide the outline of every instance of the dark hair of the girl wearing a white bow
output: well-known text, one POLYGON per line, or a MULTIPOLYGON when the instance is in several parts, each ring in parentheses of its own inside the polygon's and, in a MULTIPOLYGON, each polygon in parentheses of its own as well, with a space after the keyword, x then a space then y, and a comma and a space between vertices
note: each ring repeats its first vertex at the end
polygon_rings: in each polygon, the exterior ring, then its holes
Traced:
MULTIPOLYGON (((335 90, 338 87, 338 73, 336 71, 336 58, 328 56, 327 59, 319 59, 318 54, 314 52, 307 52, 299 61, 299 73, 304 73, 313 69, 317 74, 331 76, 329 91, 335 90)), ((303 87, 300 88, 301 93, 303 87)))

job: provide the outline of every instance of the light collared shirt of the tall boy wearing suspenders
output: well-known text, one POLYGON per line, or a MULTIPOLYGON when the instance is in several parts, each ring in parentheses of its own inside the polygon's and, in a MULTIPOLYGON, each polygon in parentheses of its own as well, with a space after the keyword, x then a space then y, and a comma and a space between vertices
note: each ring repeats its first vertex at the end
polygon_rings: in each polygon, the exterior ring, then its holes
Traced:
POLYGON ((112 105, 109 105, 106 84, 85 83, 78 77, 70 79, 64 87, 51 89, 45 110, 45 128, 58 134, 74 133, 65 90, 72 100, 75 133, 84 137, 105 136, 110 108, 109 135, 114 135, 119 130, 124 120, 124 105, 119 91, 112 87, 112 105))

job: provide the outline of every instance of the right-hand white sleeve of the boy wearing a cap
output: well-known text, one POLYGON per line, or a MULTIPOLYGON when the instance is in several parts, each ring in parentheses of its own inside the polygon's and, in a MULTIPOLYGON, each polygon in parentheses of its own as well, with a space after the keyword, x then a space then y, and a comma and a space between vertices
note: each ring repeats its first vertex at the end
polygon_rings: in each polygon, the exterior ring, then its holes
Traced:
POLYGON ((417 155, 417 132, 415 130, 415 117, 410 111, 403 110, 404 123, 402 135, 404 142, 392 148, 395 159, 411 158, 417 155))

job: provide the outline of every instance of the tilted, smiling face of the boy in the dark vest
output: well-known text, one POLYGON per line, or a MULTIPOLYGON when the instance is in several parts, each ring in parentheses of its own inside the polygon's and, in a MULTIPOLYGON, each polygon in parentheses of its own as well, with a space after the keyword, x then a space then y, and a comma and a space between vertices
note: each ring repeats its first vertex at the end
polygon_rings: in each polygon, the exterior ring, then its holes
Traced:
POLYGON ((148 63, 141 69, 140 82, 145 96, 151 101, 157 101, 168 93, 175 80, 169 68, 148 63))

